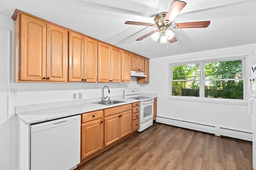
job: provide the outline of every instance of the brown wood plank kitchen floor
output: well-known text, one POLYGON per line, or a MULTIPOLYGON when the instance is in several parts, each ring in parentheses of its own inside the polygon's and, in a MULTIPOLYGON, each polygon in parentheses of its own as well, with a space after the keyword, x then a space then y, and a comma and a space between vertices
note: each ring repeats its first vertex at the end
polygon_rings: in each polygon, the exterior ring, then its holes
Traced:
POLYGON ((252 170, 252 143, 154 123, 77 170, 252 170))

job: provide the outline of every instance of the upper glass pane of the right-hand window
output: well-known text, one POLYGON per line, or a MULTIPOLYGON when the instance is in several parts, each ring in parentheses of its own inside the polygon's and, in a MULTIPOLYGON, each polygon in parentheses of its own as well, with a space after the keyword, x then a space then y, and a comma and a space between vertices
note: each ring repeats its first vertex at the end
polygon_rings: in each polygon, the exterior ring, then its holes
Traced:
POLYGON ((205 63, 205 79, 242 78, 242 60, 205 63))

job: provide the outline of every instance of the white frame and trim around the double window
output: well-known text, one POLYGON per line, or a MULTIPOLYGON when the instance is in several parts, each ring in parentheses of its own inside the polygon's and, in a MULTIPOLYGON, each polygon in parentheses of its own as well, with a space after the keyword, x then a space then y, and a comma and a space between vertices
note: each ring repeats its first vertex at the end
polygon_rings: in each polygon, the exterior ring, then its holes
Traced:
MULTIPOLYGON (((190 102, 203 102, 203 103, 215 103, 215 104, 230 104, 230 105, 240 105, 240 106, 248 106, 248 100, 247 100, 247 72, 246 67, 248 66, 248 56, 242 56, 242 57, 228 57, 228 58, 222 58, 222 59, 208 59, 208 60, 202 60, 197 62, 183 62, 183 63, 175 63, 175 64, 169 64, 169 92, 168 92, 168 100, 180 100, 180 101, 190 101, 190 102), (204 63, 207 62, 216 62, 216 61, 232 61, 232 60, 242 60, 242 79, 243 80, 243 99, 220 99, 220 98, 204 98, 204 63), (200 93, 199 97, 194 96, 172 96, 172 66, 175 65, 185 65, 185 64, 199 64, 199 82, 200 82, 200 93), (203 68, 202 68, 203 67, 203 68), (203 71, 201 72, 201 69, 203 71)), ((207 79, 206 79, 207 80, 207 79)), ((237 79, 236 79, 237 80, 237 79)), ((190 80, 188 80, 190 81, 190 80)))

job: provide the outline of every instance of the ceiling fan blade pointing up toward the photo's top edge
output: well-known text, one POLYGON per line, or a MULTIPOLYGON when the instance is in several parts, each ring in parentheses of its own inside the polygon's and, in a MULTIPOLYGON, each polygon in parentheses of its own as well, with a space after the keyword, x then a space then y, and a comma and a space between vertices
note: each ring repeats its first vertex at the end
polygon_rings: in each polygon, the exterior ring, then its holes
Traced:
POLYGON ((164 21, 172 22, 174 18, 180 13, 180 11, 186 6, 186 2, 182 1, 174 1, 166 16, 164 17, 164 21))

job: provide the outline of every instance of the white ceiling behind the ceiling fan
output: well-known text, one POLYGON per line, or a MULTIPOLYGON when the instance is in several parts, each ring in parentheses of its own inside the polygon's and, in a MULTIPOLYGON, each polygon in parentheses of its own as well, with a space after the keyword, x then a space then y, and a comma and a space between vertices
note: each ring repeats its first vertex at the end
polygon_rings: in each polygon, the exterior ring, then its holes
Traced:
POLYGON ((156 58, 256 43, 256 0, 183 0, 187 3, 174 22, 210 20, 207 28, 172 30, 178 39, 161 45, 150 37, 135 39, 153 27, 125 21, 154 23, 173 0, 0 0, 0 14, 15 9, 57 23, 144 57, 156 58))

